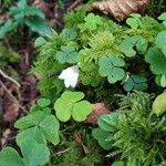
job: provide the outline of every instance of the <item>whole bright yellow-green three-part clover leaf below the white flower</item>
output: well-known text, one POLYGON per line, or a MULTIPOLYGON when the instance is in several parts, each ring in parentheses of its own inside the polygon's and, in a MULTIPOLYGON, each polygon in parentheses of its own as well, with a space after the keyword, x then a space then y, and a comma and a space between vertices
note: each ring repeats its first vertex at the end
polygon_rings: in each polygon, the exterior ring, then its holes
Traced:
POLYGON ((54 103, 56 117, 62 122, 69 121, 71 116, 77 122, 85 121, 92 112, 92 104, 81 101, 83 97, 82 92, 64 92, 54 103))

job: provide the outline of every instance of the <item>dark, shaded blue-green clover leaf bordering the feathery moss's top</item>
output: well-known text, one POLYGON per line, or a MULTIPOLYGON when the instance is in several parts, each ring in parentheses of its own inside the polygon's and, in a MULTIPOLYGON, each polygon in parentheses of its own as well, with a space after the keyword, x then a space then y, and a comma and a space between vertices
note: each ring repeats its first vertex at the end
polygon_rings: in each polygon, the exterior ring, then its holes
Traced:
POLYGON ((123 86, 127 92, 133 90, 144 91, 147 89, 147 79, 141 75, 131 74, 127 75, 123 86))

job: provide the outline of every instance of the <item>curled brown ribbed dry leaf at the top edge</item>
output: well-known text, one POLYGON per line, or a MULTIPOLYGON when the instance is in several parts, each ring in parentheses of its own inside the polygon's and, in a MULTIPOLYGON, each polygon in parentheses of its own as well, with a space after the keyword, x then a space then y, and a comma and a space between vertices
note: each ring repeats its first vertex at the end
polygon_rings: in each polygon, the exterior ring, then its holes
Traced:
POLYGON ((118 22, 124 21, 131 13, 144 12, 149 0, 103 0, 94 2, 91 10, 100 10, 113 15, 118 22))

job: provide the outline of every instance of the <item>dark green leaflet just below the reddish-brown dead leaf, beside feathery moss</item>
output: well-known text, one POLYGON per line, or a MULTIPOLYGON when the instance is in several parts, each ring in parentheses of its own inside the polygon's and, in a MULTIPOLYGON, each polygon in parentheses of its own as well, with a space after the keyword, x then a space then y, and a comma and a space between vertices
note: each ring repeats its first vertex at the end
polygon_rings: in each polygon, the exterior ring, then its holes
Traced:
POLYGON ((108 141, 113 135, 108 132, 105 132, 101 128, 94 128, 92 131, 93 137, 98 142, 100 146, 106 151, 110 151, 113 146, 113 142, 108 141))

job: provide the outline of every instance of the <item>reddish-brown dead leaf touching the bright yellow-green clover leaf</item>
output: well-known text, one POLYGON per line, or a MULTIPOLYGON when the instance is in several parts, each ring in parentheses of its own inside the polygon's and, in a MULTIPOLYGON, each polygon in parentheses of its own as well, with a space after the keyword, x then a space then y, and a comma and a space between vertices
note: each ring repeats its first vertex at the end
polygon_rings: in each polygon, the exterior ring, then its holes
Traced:
POLYGON ((110 114, 111 112, 106 108, 104 103, 96 103, 93 105, 93 111, 89 115, 85 123, 97 124, 97 120, 103 114, 110 114))

